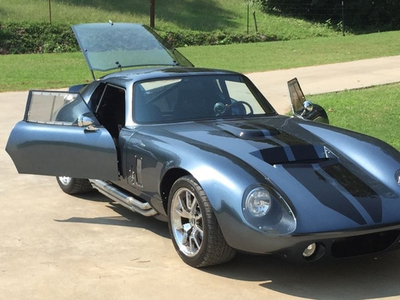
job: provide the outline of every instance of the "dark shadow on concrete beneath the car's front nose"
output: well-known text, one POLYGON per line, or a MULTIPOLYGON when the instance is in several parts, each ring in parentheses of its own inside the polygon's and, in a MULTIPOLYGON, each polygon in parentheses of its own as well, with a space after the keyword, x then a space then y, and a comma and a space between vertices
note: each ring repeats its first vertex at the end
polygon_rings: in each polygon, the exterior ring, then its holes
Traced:
POLYGON ((400 295, 400 252, 314 263, 237 254, 229 263, 203 269, 286 295, 310 299, 375 299, 400 295))

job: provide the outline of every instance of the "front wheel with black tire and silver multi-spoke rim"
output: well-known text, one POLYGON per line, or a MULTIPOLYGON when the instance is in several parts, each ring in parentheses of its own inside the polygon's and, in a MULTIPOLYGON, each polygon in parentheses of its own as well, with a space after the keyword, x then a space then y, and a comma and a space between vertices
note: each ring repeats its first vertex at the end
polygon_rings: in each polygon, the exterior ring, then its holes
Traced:
POLYGON ((168 226, 176 251, 192 267, 225 263, 235 256, 235 250, 222 235, 207 195, 192 176, 184 176, 172 186, 168 226))

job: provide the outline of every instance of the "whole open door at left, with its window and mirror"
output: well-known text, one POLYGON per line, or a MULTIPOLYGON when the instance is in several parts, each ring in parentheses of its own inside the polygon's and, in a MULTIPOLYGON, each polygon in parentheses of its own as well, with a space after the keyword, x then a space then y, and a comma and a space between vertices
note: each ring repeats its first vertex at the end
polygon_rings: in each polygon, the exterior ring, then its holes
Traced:
POLYGON ((19 173, 118 180, 114 140, 78 93, 30 91, 6 151, 19 173))

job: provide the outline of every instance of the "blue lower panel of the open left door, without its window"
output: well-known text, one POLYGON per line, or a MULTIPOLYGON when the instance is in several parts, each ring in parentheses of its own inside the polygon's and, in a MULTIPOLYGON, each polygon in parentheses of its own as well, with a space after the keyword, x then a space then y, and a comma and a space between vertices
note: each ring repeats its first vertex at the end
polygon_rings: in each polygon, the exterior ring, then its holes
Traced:
POLYGON ((19 173, 118 180, 114 141, 104 128, 19 122, 6 151, 19 173))

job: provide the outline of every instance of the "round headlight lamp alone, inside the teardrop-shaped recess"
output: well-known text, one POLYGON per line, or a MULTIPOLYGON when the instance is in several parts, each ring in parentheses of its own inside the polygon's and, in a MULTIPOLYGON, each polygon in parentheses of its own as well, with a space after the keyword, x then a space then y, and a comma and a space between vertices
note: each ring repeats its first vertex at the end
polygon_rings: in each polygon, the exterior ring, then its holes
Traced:
POLYGON ((265 216, 271 208, 271 195, 262 188, 253 189, 247 196, 245 209, 256 218, 265 216))

